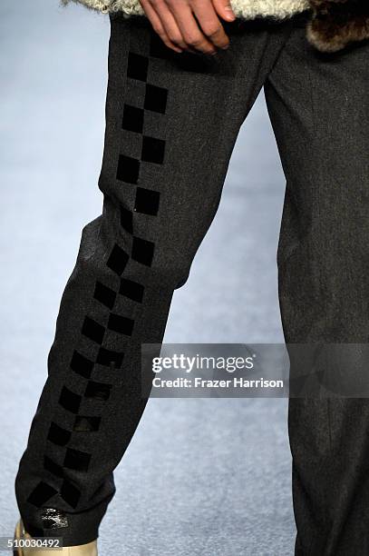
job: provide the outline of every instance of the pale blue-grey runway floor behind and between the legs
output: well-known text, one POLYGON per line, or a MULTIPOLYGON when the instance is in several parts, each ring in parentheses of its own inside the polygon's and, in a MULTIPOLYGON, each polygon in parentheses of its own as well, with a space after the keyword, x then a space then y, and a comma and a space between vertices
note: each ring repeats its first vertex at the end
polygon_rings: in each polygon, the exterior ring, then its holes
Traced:
MULTIPOLYGON (((77 6, 0 6, 1 497, 46 376, 63 286, 83 225, 101 213, 108 19, 77 6)), ((282 342, 277 233, 284 177, 257 100, 215 222, 174 295, 168 343, 282 342)), ((295 524, 286 400, 151 399, 115 472, 102 556, 288 556, 295 524)))

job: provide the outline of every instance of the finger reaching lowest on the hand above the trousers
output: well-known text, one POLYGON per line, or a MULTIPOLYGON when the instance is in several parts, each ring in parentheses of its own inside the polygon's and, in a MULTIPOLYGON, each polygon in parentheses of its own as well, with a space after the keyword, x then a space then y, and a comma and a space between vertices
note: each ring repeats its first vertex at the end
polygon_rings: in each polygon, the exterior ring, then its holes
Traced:
POLYGON ((170 5, 170 9, 185 43, 190 49, 204 54, 216 54, 216 48, 202 33, 188 4, 180 4, 178 2, 170 5))

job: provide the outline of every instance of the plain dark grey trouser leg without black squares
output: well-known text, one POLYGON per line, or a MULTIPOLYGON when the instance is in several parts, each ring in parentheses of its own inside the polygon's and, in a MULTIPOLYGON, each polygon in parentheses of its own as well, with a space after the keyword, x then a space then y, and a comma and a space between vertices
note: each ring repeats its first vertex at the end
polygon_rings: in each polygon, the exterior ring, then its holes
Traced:
MULTIPOLYGON (((369 337, 368 58, 367 41, 318 53, 301 29, 265 85, 286 174, 277 263, 287 343, 369 337)), ((357 361, 346 357, 343 371, 357 361)), ((296 554, 368 554, 369 400, 291 398, 288 427, 296 554)))

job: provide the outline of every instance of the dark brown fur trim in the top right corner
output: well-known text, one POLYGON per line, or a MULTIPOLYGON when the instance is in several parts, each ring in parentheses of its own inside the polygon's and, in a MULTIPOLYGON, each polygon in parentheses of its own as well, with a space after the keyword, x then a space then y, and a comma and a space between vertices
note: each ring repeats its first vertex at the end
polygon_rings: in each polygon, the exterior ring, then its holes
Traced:
POLYGON ((310 0, 307 39, 322 52, 336 52, 369 38, 369 0, 310 0))

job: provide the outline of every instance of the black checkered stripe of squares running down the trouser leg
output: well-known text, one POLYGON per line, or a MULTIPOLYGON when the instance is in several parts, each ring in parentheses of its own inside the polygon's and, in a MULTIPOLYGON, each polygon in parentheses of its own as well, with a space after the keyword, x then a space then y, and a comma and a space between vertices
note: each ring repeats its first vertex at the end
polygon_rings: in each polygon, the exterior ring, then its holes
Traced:
MULTIPOLYGON (((95 401, 106 402, 110 398, 112 384, 93 380, 93 371, 96 364, 108 367, 112 372, 121 369, 123 364, 124 352, 113 351, 104 346, 104 339, 109 331, 119 333, 123 338, 129 339, 134 329, 133 319, 114 312, 114 305, 118 296, 129 298, 135 303, 143 303, 144 301, 144 286, 125 278, 124 271, 131 262, 151 267, 155 256, 155 244, 134 234, 133 218, 133 213, 155 217, 160 209, 160 193, 140 186, 141 163, 164 164, 165 160, 165 141, 144 134, 145 113, 151 111, 157 113, 160 117, 164 117, 169 94, 167 88, 148 83, 148 70, 152 56, 165 56, 165 51, 157 35, 151 35, 150 56, 137 54, 131 52, 131 50, 129 52, 127 80, 145 84, 144 104, 141 108, 124 103, 121 119, 123 130, 141 134, 142 138, 140 159, 121 153, 116 173, 116 179, 119 182, 135 186, 135 201, 132 210, 120 204, 121 228, 131 234, 131 253, 127 253, 116 241, 106 258, 106 266, 114 276, 118 277, 119 287, 117 290, 112 289, 100 280, 95 283, 93 300, 95 303, 101 303, 109 311, 107 325, 104 326, 97 322, 88 314, 84 318, 81 334, 84 339, 88 339, 92 343, 92 346, 96 344, 99 346, 98 352, 93 361, 78 349, 73 351, 70 370, 83 377, 85 389, 82 396, 63 384, 59 405, 66 412, 73 413, 73 430, 64 428, 56 420, 50 424, 47 442, 52 442, 53 445, 60 447, 63 463, 54 462, 47 453, 44 453, 44 469, 52 473, 53 476, 60 478, 60 490, 56 491, 46 480, 40 481, 27 499, 37 508, 44 507, 53 499, 54 495, 60 494, 63 501, 67 502, 71 509, 78 509, 81 491, 71 480, 64 477, 63 470, 66 468, 75 472, 89 472, 92 453, 76 450, 70 445, 73 441, 78 443, 81 434, 90 435, 99 432, 103 419, 102 415, 80 413, 80 406, 83 398, 91 400, 92 403, 95 401)), ((51 503, 51 505, 53 504, 51 503)), ((46 528, 53 527, 58 520, 63 524, 66 522, 65 519, 60 519, 60 512, 58 515, 53 515, 47 510, 44 512, 46 528)))

